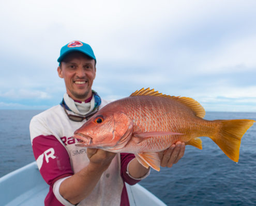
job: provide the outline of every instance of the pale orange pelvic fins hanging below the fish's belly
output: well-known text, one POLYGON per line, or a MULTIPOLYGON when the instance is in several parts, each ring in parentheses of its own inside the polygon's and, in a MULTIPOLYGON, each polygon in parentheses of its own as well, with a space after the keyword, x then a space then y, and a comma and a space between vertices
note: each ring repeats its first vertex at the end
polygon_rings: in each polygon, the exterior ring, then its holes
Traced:
POLYGON ((150 166, 153 169, 160 171, 160 159, 158 153, 138 153, 135 154, 135 157, 144 167, 148 168, 148 166, 150 166))

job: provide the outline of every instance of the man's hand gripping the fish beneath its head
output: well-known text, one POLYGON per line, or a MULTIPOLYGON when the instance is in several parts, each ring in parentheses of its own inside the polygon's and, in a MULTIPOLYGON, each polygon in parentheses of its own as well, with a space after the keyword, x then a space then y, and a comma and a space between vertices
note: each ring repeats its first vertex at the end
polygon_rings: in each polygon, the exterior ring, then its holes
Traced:
POLYGON ((93 148, 87 148, 86 153, 90 164, 103 169, 107 169, 109 167, 111 161, 116 155, 114 152, 93 148))

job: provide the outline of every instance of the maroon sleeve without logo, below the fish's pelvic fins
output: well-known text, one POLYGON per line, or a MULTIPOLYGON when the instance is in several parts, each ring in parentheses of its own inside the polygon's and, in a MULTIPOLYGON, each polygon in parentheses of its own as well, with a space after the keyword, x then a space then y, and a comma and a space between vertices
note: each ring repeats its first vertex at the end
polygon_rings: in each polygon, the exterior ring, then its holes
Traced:
POLYGON ((128 163, 134 158, 135 156, 131 153, 121 153, 121 177, 123 178, 124 182, 127 182, 130 185, 136 184, 140 181, 134 180, 126 173, 128 163))

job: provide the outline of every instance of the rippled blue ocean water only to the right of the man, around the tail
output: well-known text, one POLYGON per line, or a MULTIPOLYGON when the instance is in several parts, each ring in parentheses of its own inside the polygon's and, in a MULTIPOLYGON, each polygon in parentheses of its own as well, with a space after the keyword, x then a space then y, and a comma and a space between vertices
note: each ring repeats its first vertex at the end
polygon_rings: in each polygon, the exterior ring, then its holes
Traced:
MULTIPOLYGON (((205 119, 254 119, 256 113, 206 112, 205 119)), ((209 138, 186 146, 172 168, 151 170, 140 182, 167 205, 256 205, 256 124, 242 138, 235 163, 209 138)))

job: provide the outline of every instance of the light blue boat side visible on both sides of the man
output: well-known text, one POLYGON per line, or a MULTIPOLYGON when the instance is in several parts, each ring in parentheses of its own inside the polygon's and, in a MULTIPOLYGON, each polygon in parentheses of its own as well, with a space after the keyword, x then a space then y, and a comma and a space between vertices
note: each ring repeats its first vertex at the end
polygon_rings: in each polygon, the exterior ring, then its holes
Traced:
MULTIPOLYGON (((126 184, 130 206, 166 206, 140 184, 126 184)), ((0 178, 0 205, 44 205, 49 185, 42 179, 36 162, 0 178)))

